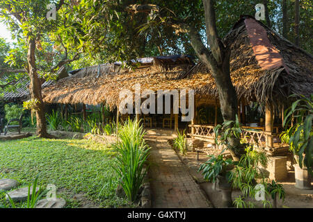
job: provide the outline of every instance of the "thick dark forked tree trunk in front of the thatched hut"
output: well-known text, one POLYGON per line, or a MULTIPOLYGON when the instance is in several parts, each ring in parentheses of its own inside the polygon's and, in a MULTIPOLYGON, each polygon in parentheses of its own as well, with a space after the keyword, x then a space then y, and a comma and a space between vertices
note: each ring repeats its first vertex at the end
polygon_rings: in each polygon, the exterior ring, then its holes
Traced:
MULTIPOLYGON (((191 37, 191 45, 200 60, 212 71, 211 74, 214 77, 218 89, 220 111, 222 112, 224 121, 234 121, 236 120, 238 102, 236 90, 230 78, 231 51, 227 46, 223 46, 223 43, 219 40, 216 29, 214 3, 215 1, 213 0, 203 0, 207 39, 211 52, 204 46, 201 36, 193 28, 190 29, 189 35, 191 37)), ((238 161, 242 154, 239 139, 231 137, 228 139, 228 142, 230 144, 229 151, 233 159, 238 161)))

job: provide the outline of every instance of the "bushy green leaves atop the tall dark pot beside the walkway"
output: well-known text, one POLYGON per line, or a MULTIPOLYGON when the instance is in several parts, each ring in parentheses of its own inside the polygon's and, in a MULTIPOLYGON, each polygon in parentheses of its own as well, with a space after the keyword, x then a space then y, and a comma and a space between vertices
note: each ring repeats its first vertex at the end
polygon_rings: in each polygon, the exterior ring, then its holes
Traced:
POLYGON ((230 169, 232 167, 232 160, 223 159, 223 155, 209 155, 209 160, 204 164, 201 164, 198 171, 202 171, 205 180, 210 182, 216 182, 218 175, 225 176, 227 180, 230 180, 230 169))

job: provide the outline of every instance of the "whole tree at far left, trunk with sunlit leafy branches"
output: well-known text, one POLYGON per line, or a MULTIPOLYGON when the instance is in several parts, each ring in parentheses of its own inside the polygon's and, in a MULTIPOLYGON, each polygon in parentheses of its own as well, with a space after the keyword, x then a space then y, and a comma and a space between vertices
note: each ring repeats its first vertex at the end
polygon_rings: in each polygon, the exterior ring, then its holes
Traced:
MULTIPOLYGON (((38 55, 47 58, 51 49, 44 51, 44 42, 49 39, 48 33, 56 31, 59 26, 63 26, 61 20, 47 21, 47 5, 51 3, 48 0, 42 1, 14 1, 6 0, 0 2, 0 19, 8 24, 10 31, 14 33, 19 42, 22 42, 27 49, 26 63, 22 69, 12 69, 7 67, 0 68, 0 74, 17 74, 27 73, 30 79, 29 90, 31 94, 31 108, 35 110, 37 120, 37 135, 39 137, 50 137, 47 134, 45 119, 45 104, 42 101, 40 77, 47 73, 56 72, 60 67, 77 58, 75 55, 72 59, 67 58, 67 49, 65 49, 65 58, 61 61, 47 62, 52 67, 42 67, 42 62, 37 60, 38 55), (36 53, 38 54, 36 56, 36 53)), ((63 6, 64 1, 59 1, 56 10, 63 6)), ((49 41, 48 41, 49 42, 49 41)), ((47 42, 46 42, 47 43, 47 42)), ((14 53, 14 52, 13 52, 14 53)), ((1 77, 1 76, 0 76, 1 77)))

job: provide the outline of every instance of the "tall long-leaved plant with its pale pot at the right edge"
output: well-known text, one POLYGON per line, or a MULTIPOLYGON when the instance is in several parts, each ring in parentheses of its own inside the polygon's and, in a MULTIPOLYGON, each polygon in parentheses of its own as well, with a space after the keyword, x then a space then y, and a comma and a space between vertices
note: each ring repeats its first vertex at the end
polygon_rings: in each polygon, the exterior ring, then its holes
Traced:
MULTIPOLYGON (((294 96, 294 95, 293 95, 294 96)), ((295 187, 299 189, 312 189, 312 169, 313 169, 313 95, 310 99, 301 96, 301 99, 295 101, 290 108, 285 111, 286 118, 283 126, 287 128, 280 138, 282 142, 289 144, 289 150, 294 153, 295 169, 295 187)))

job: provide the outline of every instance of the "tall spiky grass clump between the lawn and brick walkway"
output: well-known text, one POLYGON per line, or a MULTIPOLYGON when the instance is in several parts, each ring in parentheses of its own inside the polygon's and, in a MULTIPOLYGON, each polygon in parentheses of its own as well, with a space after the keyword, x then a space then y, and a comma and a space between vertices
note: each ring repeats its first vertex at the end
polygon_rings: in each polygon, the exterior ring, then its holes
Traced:
POLYGON ((117 155, 115 171, 127 198, 134 202, 147 173, 144 168, 150 148, 145 144, 145 132, 139 121, 128 119, 119 130, 119 139, 113 144, 117 155))

